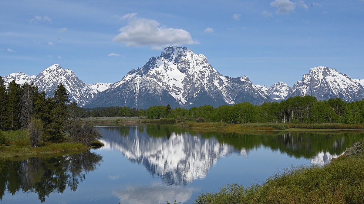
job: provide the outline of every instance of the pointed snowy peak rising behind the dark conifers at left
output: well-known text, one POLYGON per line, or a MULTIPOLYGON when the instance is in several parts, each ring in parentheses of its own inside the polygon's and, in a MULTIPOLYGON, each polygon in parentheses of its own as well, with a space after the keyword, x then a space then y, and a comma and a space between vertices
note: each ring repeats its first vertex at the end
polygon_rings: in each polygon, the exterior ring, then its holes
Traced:
POLYGON ((86 83, 83 83, 74 72, 69 69, 62 69, 58 64, 54 64, 43 72, 39 73, 33 80, 40 91, 46 92, 46 97, 53 97, 56 87, 63 83, 70 101, 77 102, 84 106, 95 96, 95 91, 86 83))

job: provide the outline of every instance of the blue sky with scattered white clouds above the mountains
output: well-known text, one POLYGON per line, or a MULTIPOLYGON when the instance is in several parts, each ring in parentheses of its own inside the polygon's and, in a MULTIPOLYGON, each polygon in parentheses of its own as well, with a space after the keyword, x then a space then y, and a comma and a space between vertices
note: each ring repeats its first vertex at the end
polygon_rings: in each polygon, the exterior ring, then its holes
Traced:
POLYGON ((168 45, 224 76, 293 86, 315 66, 364 79, 364 0, 0 0, 0 76, 53 64, 116 82, 168 45))

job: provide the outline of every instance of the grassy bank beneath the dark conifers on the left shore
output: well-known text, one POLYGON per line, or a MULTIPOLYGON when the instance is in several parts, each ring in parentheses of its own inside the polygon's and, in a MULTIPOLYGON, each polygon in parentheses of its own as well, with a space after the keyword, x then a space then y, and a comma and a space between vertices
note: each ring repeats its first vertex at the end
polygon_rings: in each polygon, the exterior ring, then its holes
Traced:
POLYGON ((29 157, 44 154, 56 154, 60 152, 80 152, 89 150, 84 144, 63 143, 41 143, 40 147, 33 148, 29 143, 29 132, 25 130, 1 131, 0 158, 29 157))

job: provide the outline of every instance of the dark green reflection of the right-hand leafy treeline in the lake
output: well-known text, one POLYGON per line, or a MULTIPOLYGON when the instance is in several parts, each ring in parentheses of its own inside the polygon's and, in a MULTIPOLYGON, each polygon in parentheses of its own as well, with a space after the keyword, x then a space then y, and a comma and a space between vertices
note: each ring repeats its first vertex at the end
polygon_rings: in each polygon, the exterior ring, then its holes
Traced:
POLYGON ((357 132, 286 132, 269 135, 203 132, 201 136, 204 138, 215 137, 220 143, 230 144, 238 150, 252 150, 262 145, 295 158, 311 159, 322 151, 332 155, 340 155, 345 149, 363 138, 364 134, 357 132))

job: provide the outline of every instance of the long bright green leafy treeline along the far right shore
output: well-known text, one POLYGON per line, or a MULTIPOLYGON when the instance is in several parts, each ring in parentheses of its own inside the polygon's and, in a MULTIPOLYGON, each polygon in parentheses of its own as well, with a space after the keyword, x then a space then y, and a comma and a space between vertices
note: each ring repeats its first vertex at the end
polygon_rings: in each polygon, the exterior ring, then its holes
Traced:
POLYGON ((249 102, 234 105, 211 105, 181 107, 171 109, 167 106, 152 106, 146 110, 149 119, 191 118, 197 121, 225 123, 364 123, 364 99, 345 102, 340 98, 318 101, 315 97, 295 96, 281 102, 265 102, 253 105, 249 102))

